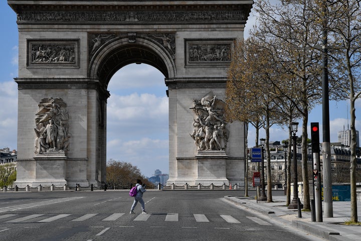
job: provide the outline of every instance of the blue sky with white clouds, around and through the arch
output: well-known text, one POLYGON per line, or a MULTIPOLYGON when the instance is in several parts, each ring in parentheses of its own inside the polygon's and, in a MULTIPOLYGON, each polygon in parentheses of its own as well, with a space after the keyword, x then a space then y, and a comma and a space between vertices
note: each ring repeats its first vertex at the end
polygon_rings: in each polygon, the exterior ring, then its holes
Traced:
MULTIPOLYGON (((18 28, 16 15, 7 1, 0 1, 0 18, 5 35, 0 40, 3 53, 0 65, 0 149, 9 147, 13 150, 18 149, 18 90, 14 81, 18 76, 18 28)), ((246 33, 254 23, 255 18, 251 16, 246 33)), ((168 173, 168 99, 164 76, 149 65, 132 64, 113 76, 108 90, 111 96, 107 105, 107 160, 130 162, 148 177, 156 169, 168 173)), ((330 101, 331 142, 337 142, 337 131, 343 130, 343 126, 347 128, 347 103, 330 101)), ((361 125, 360 111, 361 101, 357 101, 356 129, 361 125)), ((310 112, 309 122, 319 122, 322 130, 320 105, 310 112)), ((251 129, 250 147, 254 145, 254 137, 255 132, 251 129)), ((263 131, 262 137, 265 137, 263 131)), ((271 141, 282 141, 287 139, 287 132, 273 127, 270 137, 271 141)), ((322 142, 322 133, 320 140, 322 142)))

